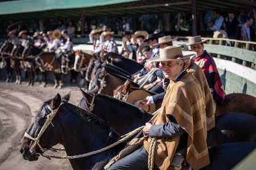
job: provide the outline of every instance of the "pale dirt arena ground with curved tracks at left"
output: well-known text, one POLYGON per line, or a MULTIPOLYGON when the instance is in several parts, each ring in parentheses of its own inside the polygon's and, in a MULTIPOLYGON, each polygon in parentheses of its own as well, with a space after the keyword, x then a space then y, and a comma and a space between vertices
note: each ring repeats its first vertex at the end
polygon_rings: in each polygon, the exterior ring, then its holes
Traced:
MULTIPOLYGON (((69 160, 48 160, 42 156, 38 161, 23 160, 19 150, 20 140, 35 118, 41 103, 57 93, 62 96, 70 91, 69 102, 77 105, 82 98, 79 87, 66 83, 62 89, 54 89, 53 84, 40 87, 38 82, 34 86, 27 86, 26 82, 17 85, 0 80, 0 91, 0 169, 72 169, 69 160)), ((53 154, 66 155, 65 152, 53 154)))

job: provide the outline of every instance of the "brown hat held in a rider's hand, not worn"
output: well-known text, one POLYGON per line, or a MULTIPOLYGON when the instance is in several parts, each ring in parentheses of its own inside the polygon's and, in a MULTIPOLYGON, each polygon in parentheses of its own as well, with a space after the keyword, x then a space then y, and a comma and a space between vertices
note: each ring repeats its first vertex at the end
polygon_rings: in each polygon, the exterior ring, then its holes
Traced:
POLYGON ((130 92, 130 94, 127 97, 126 102, 136 105, 137 107, 142 108, 143 110, 147 111, 148 113, 153 113, 156 110, 155 103, 146 105, 146 106, 143 106, 142 103, 140 103, 148 95, 151 95, 151 94, 142 89, 138 89, 138 90, 130 92))

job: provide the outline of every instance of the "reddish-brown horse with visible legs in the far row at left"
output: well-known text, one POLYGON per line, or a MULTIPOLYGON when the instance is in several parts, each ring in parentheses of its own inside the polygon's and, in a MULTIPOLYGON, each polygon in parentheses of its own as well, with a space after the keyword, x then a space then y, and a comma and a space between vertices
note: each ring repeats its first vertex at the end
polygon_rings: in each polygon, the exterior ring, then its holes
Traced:
MULTIPOLYGON (((56 73, 56 69, 59 67, 59 61, 56 59, 56 54, 54 52, 43 52, 36 57, 36 64, 38 65, 40 71, 44 73, 46 78, 46 71, 52 71, 54 75, 54 88, 61 89, 63 87, 63 75, 61 73, 56 73)), ((46 83, 46 79, 45 79, 46 83)), ((43 84, 45 86, 45 84, 43 84)))

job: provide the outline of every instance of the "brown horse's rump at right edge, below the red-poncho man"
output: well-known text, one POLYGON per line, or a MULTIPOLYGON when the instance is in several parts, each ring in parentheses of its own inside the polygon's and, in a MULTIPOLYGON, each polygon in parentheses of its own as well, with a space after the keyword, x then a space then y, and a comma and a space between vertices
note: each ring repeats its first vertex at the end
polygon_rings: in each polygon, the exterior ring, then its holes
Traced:
POLYGON ((225 95, 223 103, 216 105, 215 115, 228 112, 242 112, 256 116, 256 97, 242 93, 225 95))

